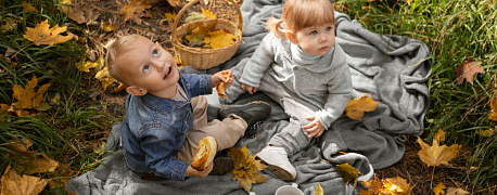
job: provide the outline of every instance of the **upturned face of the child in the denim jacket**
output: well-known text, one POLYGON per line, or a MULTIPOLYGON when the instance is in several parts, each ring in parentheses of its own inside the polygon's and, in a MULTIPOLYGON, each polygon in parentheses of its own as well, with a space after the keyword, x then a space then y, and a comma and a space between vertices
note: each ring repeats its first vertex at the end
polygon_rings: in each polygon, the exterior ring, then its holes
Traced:
POLYGON ((158 42, 153 43, 145 37, 137 38, 135 47, 116 58, 116 65, 128 86, 163 98, 165 92, 176 92, 179 73, 175 57, 158 42))

